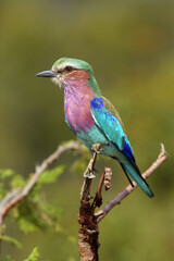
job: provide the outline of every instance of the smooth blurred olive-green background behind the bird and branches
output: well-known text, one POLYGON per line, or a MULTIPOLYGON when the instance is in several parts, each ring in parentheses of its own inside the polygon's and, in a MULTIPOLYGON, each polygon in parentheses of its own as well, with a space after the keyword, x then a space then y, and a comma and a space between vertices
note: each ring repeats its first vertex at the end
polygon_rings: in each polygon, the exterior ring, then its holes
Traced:
MULTIPOLYGON (((137 189, 100 224, 100 260, 163 261, 174 257, 174 2, 170 0, 0 1, 0 167, 27 174, 73 134, 64 123, 63 94, 35 74, 61 57, 89 62, 102 94, 120 111, 144 171, 165 145, 170 158, 149 184, 156 197, 137 189)), ((61 162, 72 162, 66 154, 61 162)), ((105 162, 100 162, 102 170, 105 162)), ((127 181, 117 163, 104 202, 127 181)), ((98 177, 97 177, 98 179, 98 177)), ((2 256, 23 260, 35 246, 44 261, 78 260, 77 213, 83 177, 67 171, 46 188, 63 209, 64 234, 25 236, 8 221, 2 256)), ((97 182, 96 182, 97 184, 97 182)))

